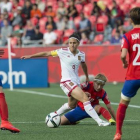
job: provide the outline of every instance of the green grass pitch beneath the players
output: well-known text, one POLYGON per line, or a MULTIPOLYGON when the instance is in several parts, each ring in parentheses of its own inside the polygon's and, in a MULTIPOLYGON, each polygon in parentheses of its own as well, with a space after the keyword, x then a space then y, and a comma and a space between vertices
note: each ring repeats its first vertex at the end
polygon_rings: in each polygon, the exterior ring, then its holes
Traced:
MULTIPOLYGON (((107 84, 105 90, 112 103, 118 103, 122 84, 107 84)), ((19 134, 0 131, 0 140, 112 140, 115 126, 99 127, 92 119, 78 125, 48 128, 45 117, 57 110, 67 97, 58 84, 50 88, 4 90, 9 106, 9 120, 21 130, 19 134), (59 96, 58 96, 59 95, 59 96)), ((140 91, 132 100, 123 127, 122 140, 140 140, 140 91)), ((101 105, 103 105, 101 103, 101 105)), ((117 109, 117 105, 112 105, 117 109)))

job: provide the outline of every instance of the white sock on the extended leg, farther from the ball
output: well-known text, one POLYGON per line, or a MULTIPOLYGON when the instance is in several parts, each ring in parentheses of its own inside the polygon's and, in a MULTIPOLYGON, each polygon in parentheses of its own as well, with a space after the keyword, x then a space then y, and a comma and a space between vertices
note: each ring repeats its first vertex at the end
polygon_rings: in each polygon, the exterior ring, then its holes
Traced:
POLYGON ((98 114, 96 113, 94 108, 91 106, 90 101, 84 102, 83 105, 87 114, 99 124, 102 120, 99 118, 98 114))

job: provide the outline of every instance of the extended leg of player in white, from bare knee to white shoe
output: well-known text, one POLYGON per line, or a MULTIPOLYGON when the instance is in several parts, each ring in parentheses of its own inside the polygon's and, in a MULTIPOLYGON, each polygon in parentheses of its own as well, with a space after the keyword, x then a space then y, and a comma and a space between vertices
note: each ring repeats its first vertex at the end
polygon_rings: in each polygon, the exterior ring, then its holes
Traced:
POLYGON ((109 125, 109 123, 104 122, 103 120, 101 120, 99 118, 99 116, 97 115, 96 111, 91 106, 91 103, 90 103, 87 95, 82 91, 82 89, 80 87, 75 87, 71 92, 71 96, 73 98, 75 98, 76 100, 81 101, 83 103, 84 109, 87 112, 87 114, 89 116, 91 116, 98 123, 99 126, 107 126, 107 125, 109 125))

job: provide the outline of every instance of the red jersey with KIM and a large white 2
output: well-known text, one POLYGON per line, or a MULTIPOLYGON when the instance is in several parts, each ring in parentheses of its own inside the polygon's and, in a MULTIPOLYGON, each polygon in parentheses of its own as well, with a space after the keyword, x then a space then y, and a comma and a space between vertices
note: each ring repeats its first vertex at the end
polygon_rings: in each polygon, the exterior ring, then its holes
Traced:
POLYGON ((126 80, 140 79, 140 28, 134 28, 123 36, 121 48, 128 49, 129 53, 126 80))

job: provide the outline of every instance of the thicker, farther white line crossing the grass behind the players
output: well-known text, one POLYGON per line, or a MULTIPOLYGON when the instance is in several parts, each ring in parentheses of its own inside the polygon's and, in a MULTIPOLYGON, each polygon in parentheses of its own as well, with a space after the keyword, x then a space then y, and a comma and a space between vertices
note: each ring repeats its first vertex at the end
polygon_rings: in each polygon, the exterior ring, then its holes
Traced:
MULTIPOLYGON (((23 92, 23 93, 28 93, 28 94, 36 94, 36 95, 43 95, 43 96, 49 96, 49 97, 55 97, 55 98, 64 98, 67 99, 68 97, 63 96, 63 95, 56 95, 56 94, 50 94, 50 93, 44 93, 44 92, 37 92, 37 91, 31 91, 31 90, 19 90, 19 89, 14 89, 12 92, 23 92)), ((102 101, 100 103, 103 103, 102 101)), ((118 103, 113 103, 111 102, 112 105, 119 105, 118 103)), ((129 107, 132 108, 140 108, 140 106, 137 105, 129 105, 129 107)))

